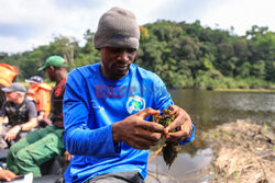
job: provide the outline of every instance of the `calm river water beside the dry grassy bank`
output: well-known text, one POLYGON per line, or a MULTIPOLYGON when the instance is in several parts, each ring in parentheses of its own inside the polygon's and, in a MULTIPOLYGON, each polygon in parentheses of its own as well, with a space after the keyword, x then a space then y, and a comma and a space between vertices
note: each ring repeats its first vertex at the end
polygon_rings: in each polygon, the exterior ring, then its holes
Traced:
MULTIPOLYGON (((194 142, 180 147, 180 153, 167 168, 162 155, 148 163, 146 182, 209 182, 212 151, 200 138, 201 131, 217 125, 251 119, 275 129, 275 93, 268 92, 218 92, 206 90, 169 90, 176 105, 185 108, 196 126, 194 142)), ((154 150, 152 149, 152 152, 154 150)))

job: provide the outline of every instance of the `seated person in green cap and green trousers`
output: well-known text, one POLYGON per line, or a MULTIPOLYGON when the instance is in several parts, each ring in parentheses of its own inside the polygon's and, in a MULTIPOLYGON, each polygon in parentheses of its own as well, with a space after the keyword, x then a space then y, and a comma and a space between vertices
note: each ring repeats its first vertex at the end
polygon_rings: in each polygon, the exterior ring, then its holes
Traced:
POLYGON ((70 155, 63 145, 63 96, 67 79, 67 65, 61 56, 46 59, 40 70, 45 70, 47 77, 55 81, 51 102, 51 121, 53 125, 31 131, 14 144, 7 157, 7 169, 15 174, 33 173, 34 178, 42 176, 40 165, 65 152, 65 160, 70 160, 70 155))

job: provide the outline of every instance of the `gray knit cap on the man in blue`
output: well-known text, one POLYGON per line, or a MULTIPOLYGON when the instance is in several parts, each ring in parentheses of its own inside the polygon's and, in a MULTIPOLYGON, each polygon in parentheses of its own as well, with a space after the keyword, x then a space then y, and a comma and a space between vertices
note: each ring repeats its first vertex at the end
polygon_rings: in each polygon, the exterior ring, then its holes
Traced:
POLYGON ((94 44, 102 47, 139 48, 140 28, 132 12, 112 8, 99 20, 94 44))

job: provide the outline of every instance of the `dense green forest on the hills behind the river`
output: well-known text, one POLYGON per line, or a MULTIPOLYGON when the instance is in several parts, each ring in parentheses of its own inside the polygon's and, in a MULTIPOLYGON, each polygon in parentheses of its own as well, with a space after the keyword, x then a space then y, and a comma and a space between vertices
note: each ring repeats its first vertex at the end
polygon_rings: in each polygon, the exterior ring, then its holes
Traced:
MULTIPOLYGON (((140 26, 141 44, 135 64, 157 73, 167 87, 197 89, 274 89, 275 33, 252 26, 244 36, 234 28, 205 27, 194 23, 160 20, 140 26)), ((100 61, 94 47, 95 33, 84 33, 85 45, 59 35, 31 52, 0 53, 0 62, 16 66, 19 81, 37 75, 52 55, 67 59, 70 70, 100 61)))

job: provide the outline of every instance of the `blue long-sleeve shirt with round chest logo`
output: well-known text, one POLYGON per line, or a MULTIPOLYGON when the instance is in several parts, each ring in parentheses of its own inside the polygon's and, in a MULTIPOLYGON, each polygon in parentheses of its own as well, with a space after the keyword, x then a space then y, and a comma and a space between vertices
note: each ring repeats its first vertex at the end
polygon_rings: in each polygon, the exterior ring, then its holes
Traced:
MULTIPOLYGON (((146 107, 163 110, 172 104, 163 81, 135 65, 119 80, 106 79, 100 64, 73 70, 63 105, 64 145, 75 156, 65 173, 66 182, 127 171, 139 171, 145 178, 148 150, 134 149, 123 141, 114 145, 112 124, 146 107)), ((193 139, 194 133, 182 144, 193 139)))

